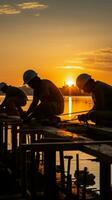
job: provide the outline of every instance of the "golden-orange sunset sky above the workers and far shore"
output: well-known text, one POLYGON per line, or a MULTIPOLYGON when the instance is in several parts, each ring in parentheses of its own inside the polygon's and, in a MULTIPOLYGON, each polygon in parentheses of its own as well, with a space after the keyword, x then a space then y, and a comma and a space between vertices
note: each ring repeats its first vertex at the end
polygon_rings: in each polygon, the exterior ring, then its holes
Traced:
POLYGON ((112 84, 112 1, 1 0, 0 81, 22 85, 25 70, 57 86, 80 73, 112 84))

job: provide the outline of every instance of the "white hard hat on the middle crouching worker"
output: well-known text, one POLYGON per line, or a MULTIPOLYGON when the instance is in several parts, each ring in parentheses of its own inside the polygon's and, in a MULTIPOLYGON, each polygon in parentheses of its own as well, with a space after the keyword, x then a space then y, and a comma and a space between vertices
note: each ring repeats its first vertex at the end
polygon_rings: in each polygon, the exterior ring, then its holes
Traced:
POLYGON ((37 76, 37 73, 32 69, 29 69, 29 70, 25 71, 24 74, 23 74, 24 84, 25 83, 26 84, 29 83, 36 76, 37 76))

